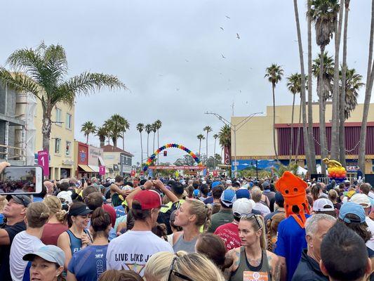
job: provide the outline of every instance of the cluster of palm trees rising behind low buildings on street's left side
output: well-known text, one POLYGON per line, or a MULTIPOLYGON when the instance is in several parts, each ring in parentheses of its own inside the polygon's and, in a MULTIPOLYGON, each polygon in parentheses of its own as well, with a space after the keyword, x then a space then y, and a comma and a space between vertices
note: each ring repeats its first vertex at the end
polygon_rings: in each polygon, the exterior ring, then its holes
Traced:
POLYGON ((86 136, 86 143, 88 143, 88 136, 91 133, 96 133, 100 139, 100 147, 105 145, 105 140, 107 139, 108 144, 113 141, 113 145, 117 146, 117 141, 122 138, 122 149, 125 149, 125 133, 130 129, 130 123, 119 114, 112 115, 107 119, 102 126, 96 127, 93 122, 87 121, 81 127, 81 132, 86 136))

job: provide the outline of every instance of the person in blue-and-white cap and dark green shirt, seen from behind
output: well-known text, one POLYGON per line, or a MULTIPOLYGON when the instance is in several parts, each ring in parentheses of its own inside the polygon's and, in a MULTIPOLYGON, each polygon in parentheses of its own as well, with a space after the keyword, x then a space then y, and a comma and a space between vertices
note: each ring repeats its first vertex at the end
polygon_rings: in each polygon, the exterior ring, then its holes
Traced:
POLYGON ((236 192, 231 189, 224 190, 220 197, 221 209, 214 214, 211 219, 211 226, 208 228, 209 233, 214 233, 215 230, 225 223, 231 223, 234 219, 232 214, 232 204, 236 200, 236 192))

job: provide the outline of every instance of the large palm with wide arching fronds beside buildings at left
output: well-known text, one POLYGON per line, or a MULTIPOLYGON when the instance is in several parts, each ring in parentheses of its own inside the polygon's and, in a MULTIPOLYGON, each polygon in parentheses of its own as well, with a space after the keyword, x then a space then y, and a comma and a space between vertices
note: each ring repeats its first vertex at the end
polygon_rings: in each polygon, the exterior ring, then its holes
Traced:
POLYGON ((51 115, 57 103, 72 105, 76 96, 88 95, 104 86, 109 89, 126 89, 113 75, 84 72, 66 79, 67 59, 61 45, 22 48, 14 51, 7 60, 14 71, 0 67, 0 81, 22 93, 32 93, 41 101, 43 108, 43 148, 49 151, 51 115))

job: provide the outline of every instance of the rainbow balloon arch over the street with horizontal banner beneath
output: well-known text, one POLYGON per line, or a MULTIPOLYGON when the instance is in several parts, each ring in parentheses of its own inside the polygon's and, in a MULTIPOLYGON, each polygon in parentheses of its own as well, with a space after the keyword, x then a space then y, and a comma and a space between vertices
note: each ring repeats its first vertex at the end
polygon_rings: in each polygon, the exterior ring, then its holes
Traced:
POLYGON ((206 167, 203 166, 203 164, 201 163, 199 157, 197 157, 197 155, 194 152, 192 152, 191 150, 189 150, 188 148, 186 148, 184 145, 180 145, 178 143, 167 143, 166 145, 163 145, 160 148, 158 148, 147 159, 147 162, 145 162, 145 166, 143 167, 143 172, 146 172, 148 169, 152 169, 152 171, 153 170, 160 170, 160 169, 173 169, 173 170, 176 170, 176 171, 178 171, 178 170, 196 170, 197 169, 197 170, 203 171, 203 169, 206 169, 206 167), (159 153, 161 151, 166 150, 168 148, 178 148, 180 150, 184 150, 185 152, 187 152, 187 154, 189 156, 191 156, 194 159, 194 161, 196 162, 197 166, 152 166, 152 162, 154 162, 154 160, 156 159, 156 156, 159 155, 159 153), (163 167, 163 168, 161 168, 161 167, 163 167), (177 167, 179 167, 179 169, 177 169, 177 167))

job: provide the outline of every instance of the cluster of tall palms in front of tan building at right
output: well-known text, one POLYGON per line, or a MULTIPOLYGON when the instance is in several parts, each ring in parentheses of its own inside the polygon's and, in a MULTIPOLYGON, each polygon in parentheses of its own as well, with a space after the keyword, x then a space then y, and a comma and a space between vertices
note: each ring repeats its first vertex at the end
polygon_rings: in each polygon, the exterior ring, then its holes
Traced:
MULTIPOLYGON (((298 13, 298 1, 293 1, 295 10, 296 31, 298 34, 298 51, 300 57, 300 73, 290 74, 287 77, 287 88, 293 94, 293 107, 295 105, 295 95, 300 94, 299 123, 302 119, 303 137, 305 144, 305 156, 311 174, 316 173, 316 155, 313 136, 312 118, 312 81, 316 79, 316 91, 319 97, 319 145, 321 148, 321 158, 330 157, 338 159, 345 165, 345 136, 344 124, 350 113, 357 105, 359 89, 364 86, 363 77, 356 73, 354 68, 347 66, 347 30, 350 0, 307 0, 307 42, 308 42, 308 63, 307 74, 305 74, 304 56, 302 48, 302 34, 300 32, 300 19, 298 13), (344 21, 343 21, 344 19, 344 21), (344 24, 343 24, 344 22, 344 24), (319 46, 319 54, 312 60, 312 25, 315 27, 316 45, 319 46), (340 41, 343 34, 342 65, 339 63, 340 41), (334 55, 328 55, 326 46, 333 41, 335 44, 334 55), (308 79, 309 78, 309 79, 308 79), (305 86, 300 86, 305 85, 305 86), (308 91, 308 95, 306 95, 308 91), (326 139, 326 102, 331 100, 333 107, 332 118, 332 141, 331 149, 328 150, 326 139), (308 101, 308 106, 306 102, 308 101), (308 110, 307 110, 308 108, 308 110), (302 117, 302 118, 301 118, 302 117)), ((374 0, 372 0, 372 15, 370 22, 370 40, 368 55, 368 73, 366 77, 365 103, 363 107, 362 128, 359 141, 359 166, 364 170, 366 124, 368 117, 368 106, 370 103, 371 91, 374 80, 373 63, 373 39, 374 39, 374 0)), ((272 84, 273 105, 275 105, 276 85, 281 81, 283 69, 276 64, 267 67, 265 77, 272 84)), ((273 123, 275 125, 276 112, 273 110, 273 123)), ((293 144, 293 121, 294 112, 291 112, 291 138, 290 138, 290 160, 292 155, 295 159, 298 154, 298 146, 295 151, 293 144)), ((300 126, 300 125, 299 125, 300 126)), ((274 155, 278 159, 275 141, 275 129, 273 130, 274 155)), ((300 129, 298 130, 298 143, 300 141, 300 129)), ((297 144, 298 145, 298 144, 297 144)), ((326 170, 325 164, 321 163, 321 170, 326 170)), ((324 173, 323 173, 324 174, 324 173)))

